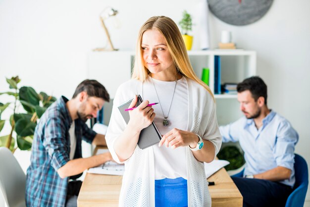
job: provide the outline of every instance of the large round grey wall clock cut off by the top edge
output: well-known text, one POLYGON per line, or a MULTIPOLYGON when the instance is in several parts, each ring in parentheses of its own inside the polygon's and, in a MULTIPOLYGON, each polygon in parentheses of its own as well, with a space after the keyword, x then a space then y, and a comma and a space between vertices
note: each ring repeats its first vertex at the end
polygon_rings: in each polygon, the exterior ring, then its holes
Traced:
POLYGON ((210 11, 232 25, 247 25, 258 21, 269 10, 273 0, 207 0, 210 11))

